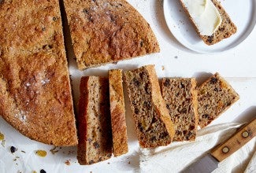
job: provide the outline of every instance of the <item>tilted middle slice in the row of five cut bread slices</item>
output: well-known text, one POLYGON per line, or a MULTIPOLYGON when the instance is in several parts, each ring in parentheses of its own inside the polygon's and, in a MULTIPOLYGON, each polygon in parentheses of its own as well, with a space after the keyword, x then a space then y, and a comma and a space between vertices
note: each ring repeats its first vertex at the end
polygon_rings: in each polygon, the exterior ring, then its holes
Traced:
POLYGON ((161 97, 154 65, 124 72, 124 77, 139 145, 143 148, 168 145, 173 140, 174 126, 161 97))

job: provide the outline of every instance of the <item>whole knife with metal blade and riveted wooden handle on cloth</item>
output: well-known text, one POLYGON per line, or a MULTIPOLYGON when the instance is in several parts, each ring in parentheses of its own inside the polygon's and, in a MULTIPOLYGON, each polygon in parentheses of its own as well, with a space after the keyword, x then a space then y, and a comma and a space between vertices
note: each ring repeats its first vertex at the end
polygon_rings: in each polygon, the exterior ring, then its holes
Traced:
POLYGON ((243 127, 240 127, 231 138, 228 138, 225 142, 215 146, 210 153, 203 156, 200 160, 186 167, 183 173, 207 173, 214 171, 218 164, 226 159, 228 156, 235 153, 243 145, 254 138, 256 135, 256 117, 250 123, 246 123, 243 127))

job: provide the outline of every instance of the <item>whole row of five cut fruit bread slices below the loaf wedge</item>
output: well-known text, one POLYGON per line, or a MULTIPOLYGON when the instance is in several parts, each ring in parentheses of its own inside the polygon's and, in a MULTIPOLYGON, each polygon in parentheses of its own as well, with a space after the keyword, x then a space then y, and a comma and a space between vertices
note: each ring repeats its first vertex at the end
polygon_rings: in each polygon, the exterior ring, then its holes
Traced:
MULTIPOLYGON (((94 164, 128 152, 122 71, 109 78, 82 77, 78 116, 78 160, 94 164)), ((194 141, 206 127, 239 99, 218 73, 202 85, 195 78, 164 78, 154 65, 124 72, 139 145, 154 148, 173 141, 194 141)))

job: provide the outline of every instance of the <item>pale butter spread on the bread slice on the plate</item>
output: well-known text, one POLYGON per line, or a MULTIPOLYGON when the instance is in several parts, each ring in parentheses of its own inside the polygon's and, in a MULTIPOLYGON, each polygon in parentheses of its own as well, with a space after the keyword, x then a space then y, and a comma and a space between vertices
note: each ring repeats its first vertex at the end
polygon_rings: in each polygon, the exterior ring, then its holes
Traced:
POLYGON ((221 14, 211 0, 183 0, 200 35, 213 35, 221 25, 221 14))

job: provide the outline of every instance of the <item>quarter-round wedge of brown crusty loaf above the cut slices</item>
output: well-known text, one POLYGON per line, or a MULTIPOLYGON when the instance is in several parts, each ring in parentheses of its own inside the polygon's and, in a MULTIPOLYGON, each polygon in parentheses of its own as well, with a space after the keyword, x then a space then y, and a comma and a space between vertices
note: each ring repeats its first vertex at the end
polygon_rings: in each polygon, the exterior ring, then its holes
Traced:
POLYGON ((80 70, 159 52, 147 21, 125 0, 65 0, 80 70))

